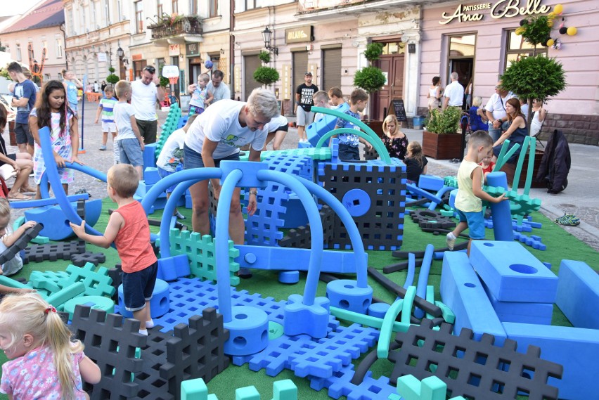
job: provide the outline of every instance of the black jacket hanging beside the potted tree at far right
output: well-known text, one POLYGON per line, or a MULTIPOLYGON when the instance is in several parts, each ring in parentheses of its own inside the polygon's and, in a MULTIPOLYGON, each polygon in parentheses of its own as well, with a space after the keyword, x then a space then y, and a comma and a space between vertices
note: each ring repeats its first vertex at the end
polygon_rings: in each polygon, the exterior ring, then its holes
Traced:
POLYGON ((568 173, 572 160, 566 136, 555 129, 547 141, 545 154, 541 159, 537 181, 545 181, 547 192, 557 194, 568 186, 568 173))

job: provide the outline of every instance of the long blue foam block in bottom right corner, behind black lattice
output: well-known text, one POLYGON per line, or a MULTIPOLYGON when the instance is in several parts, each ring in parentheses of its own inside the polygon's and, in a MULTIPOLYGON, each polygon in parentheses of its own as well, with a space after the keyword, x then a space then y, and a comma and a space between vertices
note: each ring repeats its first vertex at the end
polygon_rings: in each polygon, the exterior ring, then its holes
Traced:
POLYGON ((567 326, 503 323, 508 338, 518 343, 518 351, 525 353, 532 344, 541 348, 541 359, 564 367, 562 379, 549 378, 548 384, 558 387, 560 399, 597 399, 599 380, 599 332, 593 329, 567 326))

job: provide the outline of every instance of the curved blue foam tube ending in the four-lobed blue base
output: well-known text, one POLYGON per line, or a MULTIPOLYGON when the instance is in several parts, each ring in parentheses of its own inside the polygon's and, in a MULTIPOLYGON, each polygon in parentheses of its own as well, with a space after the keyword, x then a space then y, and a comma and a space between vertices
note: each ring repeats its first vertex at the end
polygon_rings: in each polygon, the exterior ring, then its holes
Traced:
POLYGON ((299 201, 304 205, 310 224, 311 252, 302 303, 311 306, 314 304, 314 299, 316 298, 316 288, 318 288, 318 277, 321 274, 321 262, 324 247, 323 224, 321 216, 318 213, 318 207, 316 207, 316 202, 314 202, 314 199, 304 184, 295 179, 292 175, 285 174, 284 172, 263 169, 257 172, 257 178, 261 181, 274 181, 287 186, 295 192, 299 201))

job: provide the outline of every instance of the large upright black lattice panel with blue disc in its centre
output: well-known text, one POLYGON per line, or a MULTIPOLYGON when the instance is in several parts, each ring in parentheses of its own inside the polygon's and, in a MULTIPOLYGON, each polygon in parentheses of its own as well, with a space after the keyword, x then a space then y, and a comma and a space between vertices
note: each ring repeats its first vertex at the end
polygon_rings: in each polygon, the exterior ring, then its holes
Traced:
MULTIPOLYGON (((404 235, 406 166, 396 158, 365 164, 318 163, 318 183, 332 193, 352 215, 367 250, 398 250, 404 235)), ((351 248, 341 219, 335 216, 333 240, 336 249, 351 248)))

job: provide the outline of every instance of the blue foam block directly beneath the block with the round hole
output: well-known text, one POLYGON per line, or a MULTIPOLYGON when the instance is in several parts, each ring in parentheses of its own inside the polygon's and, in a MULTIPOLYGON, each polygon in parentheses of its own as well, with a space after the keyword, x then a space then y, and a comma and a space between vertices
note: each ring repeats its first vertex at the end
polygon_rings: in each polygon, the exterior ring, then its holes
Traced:
POLYGON ((501 322, 536 323, 539 325, 551 325, 553 316, 553 304, 551 303, 520 303, 500 302, 493 293, 489 292, 487 285, 482 283, 484 291, 487 292, 493 309, 501 322))

